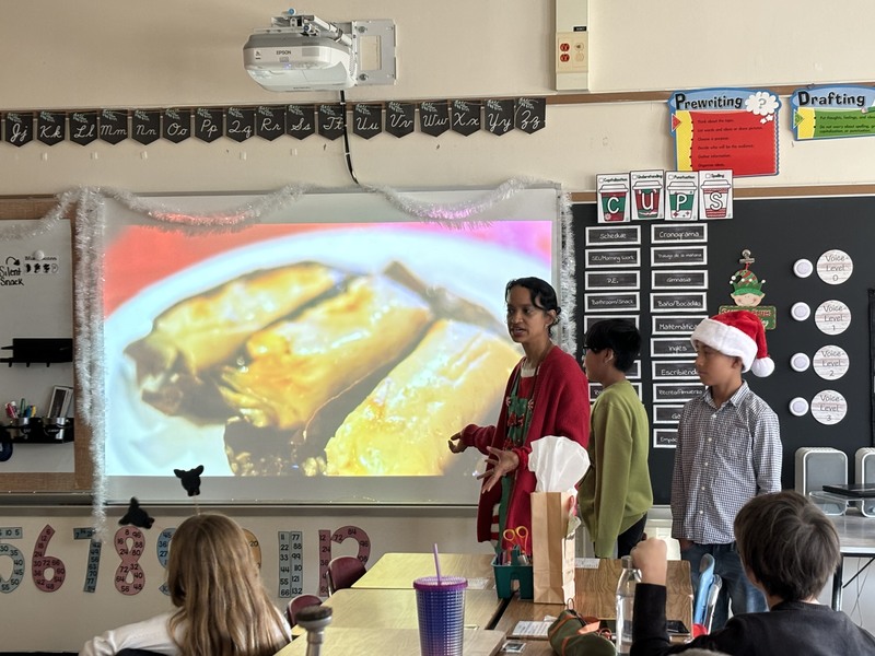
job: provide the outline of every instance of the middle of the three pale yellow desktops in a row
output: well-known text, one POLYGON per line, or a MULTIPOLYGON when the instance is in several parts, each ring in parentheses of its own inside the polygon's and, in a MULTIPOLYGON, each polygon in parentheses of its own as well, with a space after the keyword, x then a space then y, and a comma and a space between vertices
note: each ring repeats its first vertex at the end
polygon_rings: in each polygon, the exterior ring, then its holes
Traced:
MULTIPOLYGON (((465 590, 465 628, 491 629, 506 604, 494 590, 465 590)), ((342 629, 417 629, 416 591, 411 589, 345 588, 328 597, 331 626, 342 629)), ((293 635, 304 633, 298 626, 293 635)))

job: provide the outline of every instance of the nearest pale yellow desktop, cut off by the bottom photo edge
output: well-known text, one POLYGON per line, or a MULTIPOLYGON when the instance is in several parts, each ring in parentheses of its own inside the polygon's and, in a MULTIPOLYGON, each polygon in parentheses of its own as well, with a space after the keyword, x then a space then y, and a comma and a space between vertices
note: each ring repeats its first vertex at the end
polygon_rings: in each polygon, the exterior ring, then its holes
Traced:
MULTIPOLYGON (((493 593, 494 594, 494 593, 493 593)), ((465 656, 493 656, 504 644, 501 631, 466 630, 465 656)), ((292 641, 277 652, 276 656, 303 656, 307 653, 306 637, 292 641)), ((350 654, 393 654, 395 656, 419 656, 418 629, 346 629, 329 625, 325 630, 322 645, 323 656, 349 656, 350 654)))

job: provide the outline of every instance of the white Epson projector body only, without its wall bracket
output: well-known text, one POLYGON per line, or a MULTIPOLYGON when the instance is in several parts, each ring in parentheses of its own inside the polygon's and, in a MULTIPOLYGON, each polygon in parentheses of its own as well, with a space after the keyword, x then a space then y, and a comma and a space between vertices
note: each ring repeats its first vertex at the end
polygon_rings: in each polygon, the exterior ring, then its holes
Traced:
POLYGON ((341 90, 355 85, 355 58, 349 46, 291 31, 253 34, 243 63, 268 91, 341 90))

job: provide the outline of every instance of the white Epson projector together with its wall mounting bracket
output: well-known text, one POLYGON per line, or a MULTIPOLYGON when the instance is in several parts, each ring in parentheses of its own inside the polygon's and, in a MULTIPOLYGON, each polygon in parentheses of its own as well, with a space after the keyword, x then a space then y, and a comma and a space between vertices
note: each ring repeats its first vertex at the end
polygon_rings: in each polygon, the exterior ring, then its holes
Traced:
POLYGON ((293 12, 271 19, 272 26, 253 32, 243 47, 246 71, 258 84, 317 91, 395 83, 392 21, 328 23, 293 12))

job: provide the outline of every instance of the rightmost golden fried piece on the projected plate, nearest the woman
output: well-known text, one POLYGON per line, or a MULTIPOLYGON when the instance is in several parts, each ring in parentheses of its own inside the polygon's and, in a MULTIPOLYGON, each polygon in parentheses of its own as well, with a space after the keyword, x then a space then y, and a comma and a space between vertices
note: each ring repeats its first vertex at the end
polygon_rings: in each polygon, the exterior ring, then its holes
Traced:
POLYGON ((326 473, 442 475, 447 435, 491 419, 518 360, 493 332, 439 320, 328 441, 326 473))

